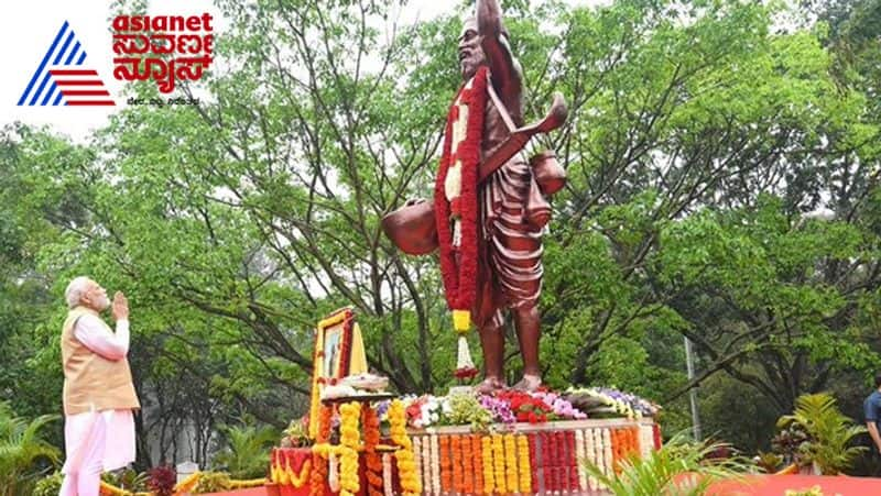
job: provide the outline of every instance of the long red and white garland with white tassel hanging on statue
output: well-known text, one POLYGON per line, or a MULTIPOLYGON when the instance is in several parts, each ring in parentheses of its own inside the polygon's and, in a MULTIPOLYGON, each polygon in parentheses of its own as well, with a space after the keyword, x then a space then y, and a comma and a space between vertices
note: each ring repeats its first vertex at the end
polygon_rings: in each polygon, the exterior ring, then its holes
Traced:
POLYGON ((440 275, 447 306, 453 310, 453 324, 459 333, 456 364, 459 378, 477 375, 465 335, 477 295, 477 168, 488 79, 487 67, 480 67, 449 109, 434 192, 440 275))

